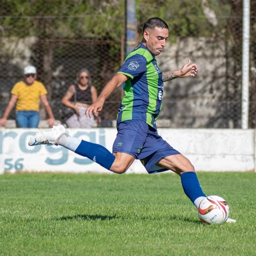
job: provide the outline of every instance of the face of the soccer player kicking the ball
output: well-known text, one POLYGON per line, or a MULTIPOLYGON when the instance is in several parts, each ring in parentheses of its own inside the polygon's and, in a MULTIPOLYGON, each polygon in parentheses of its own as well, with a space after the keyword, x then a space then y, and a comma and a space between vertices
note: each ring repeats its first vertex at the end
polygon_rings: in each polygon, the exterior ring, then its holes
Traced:
POLYGON ((146 41, 146 47, 152 53, 152 55, 159 55, 166 44, 166 40, 169 37, 169 30, 167 28, 155 28, 145 30, 143 37, 146 41))

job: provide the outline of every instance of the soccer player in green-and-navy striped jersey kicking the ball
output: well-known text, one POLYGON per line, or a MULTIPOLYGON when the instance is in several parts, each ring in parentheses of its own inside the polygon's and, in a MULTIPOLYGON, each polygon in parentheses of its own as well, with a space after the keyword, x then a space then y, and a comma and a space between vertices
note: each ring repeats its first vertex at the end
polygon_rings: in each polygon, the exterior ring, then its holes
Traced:
POLYGON ((85 112, 89 117, 92 114, 98 116, 108 96, 125 83, 117 114, 113 154, 101 145, 69 136, 62 125, 37 133, 28 144, 61 145, 119 174, 126 172, 135 159, 141 161, 148 173, 172 170, 180 175, 185 194, 198 208, 205 195, 194 166, 163 140, 156 128, 164 82, 178 77, 194 77, 198 71, 197 65, 188 60, 181 69, 162 73, 155 56, 163 51, 168 36, 168 25, 164 20, 148 19, 143 26, 141 43, 127 56, 121 69, 85 112))

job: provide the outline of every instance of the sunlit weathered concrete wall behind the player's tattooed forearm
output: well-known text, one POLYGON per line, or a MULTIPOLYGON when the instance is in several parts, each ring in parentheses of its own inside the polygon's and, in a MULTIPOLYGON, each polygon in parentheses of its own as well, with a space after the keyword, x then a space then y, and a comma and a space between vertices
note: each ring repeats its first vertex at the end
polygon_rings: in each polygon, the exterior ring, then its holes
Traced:
POLYGON ((175 43, 167 41, 156 57, 162 72, 180 69, 188 59, 199 71, 195 77, 164 83, 159 118, 170 119, 172 128, 240 127, 241 95, 236 90, 241 82, 232 75, 231 55, 230 45, 219 38, 178 37, 175 43))

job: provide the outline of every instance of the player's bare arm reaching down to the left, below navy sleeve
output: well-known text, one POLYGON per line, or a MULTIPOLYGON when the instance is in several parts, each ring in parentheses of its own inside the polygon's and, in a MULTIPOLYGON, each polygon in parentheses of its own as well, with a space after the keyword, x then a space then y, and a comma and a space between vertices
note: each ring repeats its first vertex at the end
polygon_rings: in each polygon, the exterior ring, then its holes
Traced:
POLYGON ((86 109, 85 116, 92 117, 92 113, 94 116, 98 116, 98 112, 100 112, 103 108, 103 104, 108 96, 115 91, 120 85, 126 82, 129 79, 128 76, 124 74, 116 74, 109 82, 104 86, 102 92, 100 93, 97 100, 92 103, 92 105, 86 109))

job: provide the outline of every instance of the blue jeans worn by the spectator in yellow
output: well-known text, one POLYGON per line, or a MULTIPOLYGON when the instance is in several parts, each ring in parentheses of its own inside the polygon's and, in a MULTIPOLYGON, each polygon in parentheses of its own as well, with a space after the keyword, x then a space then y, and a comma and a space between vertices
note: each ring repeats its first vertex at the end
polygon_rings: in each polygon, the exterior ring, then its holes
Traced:
POLYGON ((16 112, 16 125, 20 128, 37 128, 40 120, 38 111, 24 110, 16 112))

